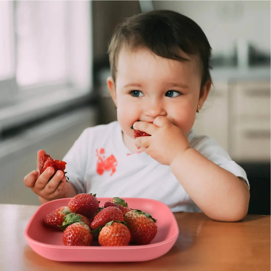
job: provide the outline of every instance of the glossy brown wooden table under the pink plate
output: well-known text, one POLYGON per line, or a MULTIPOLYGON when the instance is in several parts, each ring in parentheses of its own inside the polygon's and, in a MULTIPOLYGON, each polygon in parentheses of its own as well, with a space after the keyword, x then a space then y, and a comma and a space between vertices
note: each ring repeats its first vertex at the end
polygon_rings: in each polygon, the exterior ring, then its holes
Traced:
POLYGON ((270 216, 218 222, 202 213, 175 213, 180 234, 157 259, 133 263, 55 262, 27 244, 24 229, 38 206, 0 204, 0 270, 270 270, 270 216))

